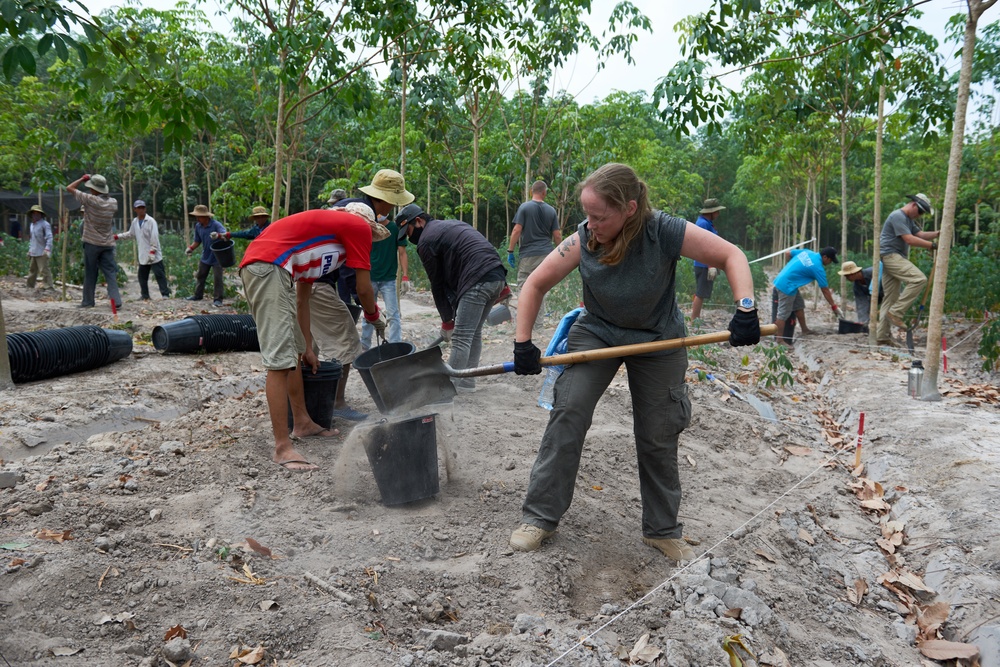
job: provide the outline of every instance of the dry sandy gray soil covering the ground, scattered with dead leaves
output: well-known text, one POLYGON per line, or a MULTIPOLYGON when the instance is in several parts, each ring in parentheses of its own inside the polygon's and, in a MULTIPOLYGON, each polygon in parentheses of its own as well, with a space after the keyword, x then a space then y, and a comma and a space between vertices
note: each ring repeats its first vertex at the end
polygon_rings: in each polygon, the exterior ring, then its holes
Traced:
MULTIPOLYGON (((112 322, 76 309, 78 294, 60 303, 18 282, 0 284, 9 333, 112 322)), ((137 340, 196 312, 136 296, 120 319, 137 340)), ((436 336, 429 295, 403 312, 406 339, 436 336)), ((976 388, 997 378, 978 370, 975 327, 946 326, 942 389, 967 393, 924 403, 906 397, 905 353, 869 351, 810 317, 818 334, 797 342, 791 387, 756 386, 761 353, 744 365, 745 348, 709 351, 708 370, 767 401, 776 423, 692 373, 681 511, 699 559, 685 567, 640 541, 624 373, 595 414, 573 506, 530 554, 507 539, 547 419, 540 377, 483 379, 438 406, 440 492, 393 507, 365 456, 367 425, 306 441, 318 472, 271 462, 256 353, 137 343, 106 368, 18 385, 0 393, 0 473, 16 478, 0 490, 0 654, 11 665, 714 667, 730 664, 728 648, 748 666, 912 666, 954 664, 918 647, 956 650, 931 641, 947 639, 1000 665, 1000 415, 996 393, 976 388)), ((486 339, 484 363, 509 358, 511 323, 486 339)), ((378 419, 357 375, 348 398, 378 419)))

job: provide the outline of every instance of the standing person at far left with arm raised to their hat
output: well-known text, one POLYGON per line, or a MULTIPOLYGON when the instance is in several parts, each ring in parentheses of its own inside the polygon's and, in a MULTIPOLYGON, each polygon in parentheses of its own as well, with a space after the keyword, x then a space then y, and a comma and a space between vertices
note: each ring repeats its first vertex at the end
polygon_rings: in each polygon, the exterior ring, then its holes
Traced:
POLYGON ((84 174, 66 189, 83 205, 83 300, 80 308, 94 307, 98 270, 108 283, 108 298, 114 302, 115 308, 121 308, 113 229, 118 201, 108 196, 108 181, 100 174, 84 174), (77 186, 81 183, 86 183, 90 192, 78 190, 77 186))

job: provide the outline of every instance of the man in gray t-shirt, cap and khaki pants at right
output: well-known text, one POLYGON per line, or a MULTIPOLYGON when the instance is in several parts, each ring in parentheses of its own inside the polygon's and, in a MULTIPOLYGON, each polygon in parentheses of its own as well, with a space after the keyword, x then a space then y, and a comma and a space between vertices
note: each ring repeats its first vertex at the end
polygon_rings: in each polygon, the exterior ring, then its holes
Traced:
POLYGON ((927 276, 909 260, 910 246, 917 248, 937 249, 937 237, 941 232, 924 232, 917 226, 920 216, 931 212, 931 200, 927 195, 917 193, 906 195, 910 200, 902 208, 897 208, 889 214, 882 226, 879 237, 879 252, 882 259, 882 288, 885 290, 885 306, 882 312, 885 317, 878 321, 878 331, 875 336, 879 345, 898 347, 893 340, 890 324, 900 329, 906 329, 903 317, 913 302, 916 301, 927 285, 927 276), (906 289, 900 296, 900 288, 906 289))

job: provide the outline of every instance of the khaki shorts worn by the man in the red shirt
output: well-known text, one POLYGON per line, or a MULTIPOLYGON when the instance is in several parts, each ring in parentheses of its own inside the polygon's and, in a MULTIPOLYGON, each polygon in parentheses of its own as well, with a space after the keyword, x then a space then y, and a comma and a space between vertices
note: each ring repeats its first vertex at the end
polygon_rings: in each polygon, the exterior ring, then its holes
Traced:
POLYGON ((257 323, 257 340, 264 368, 283 370, 299 365, 306 339, 295 314, 295 285, 280 266, 254 262, 240 269, 243 292, 257 323))

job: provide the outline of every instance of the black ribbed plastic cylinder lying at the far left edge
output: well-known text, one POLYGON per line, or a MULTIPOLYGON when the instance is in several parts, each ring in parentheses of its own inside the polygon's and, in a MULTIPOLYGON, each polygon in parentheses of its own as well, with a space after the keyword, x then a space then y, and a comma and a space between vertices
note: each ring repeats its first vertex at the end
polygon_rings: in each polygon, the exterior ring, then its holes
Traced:
POLYGON ((14 382, 32 382, 100 368, 132 354, 127 331, 95 326, 8 334, 14 382))

